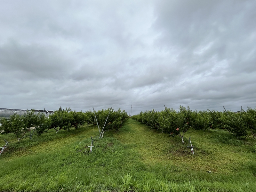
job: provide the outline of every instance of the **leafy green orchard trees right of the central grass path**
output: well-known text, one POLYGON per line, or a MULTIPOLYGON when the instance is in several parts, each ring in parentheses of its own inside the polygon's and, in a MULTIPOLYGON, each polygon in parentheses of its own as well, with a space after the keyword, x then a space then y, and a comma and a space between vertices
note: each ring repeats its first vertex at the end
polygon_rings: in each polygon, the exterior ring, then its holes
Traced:
POLYGON ((189 107, 181 107, 178 111, 165 108, 162 111, 155 109, 140 112, 132 116, 133 119, 147 124, 153 129, 160 129, 172 136, 184 136, 189 128, 196 130, 226 129, 237 137, 256 136, 256 108, 247 108, 242 112, 219 111, 192 111, 189 107))

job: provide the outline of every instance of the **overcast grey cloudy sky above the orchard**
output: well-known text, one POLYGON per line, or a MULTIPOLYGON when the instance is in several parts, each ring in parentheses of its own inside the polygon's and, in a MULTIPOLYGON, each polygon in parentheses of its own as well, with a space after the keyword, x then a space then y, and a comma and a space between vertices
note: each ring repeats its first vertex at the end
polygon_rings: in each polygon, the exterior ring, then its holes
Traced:
POLYGON ((255 0, 0 1, 0 108, 255 108, 255 10, 255 0))

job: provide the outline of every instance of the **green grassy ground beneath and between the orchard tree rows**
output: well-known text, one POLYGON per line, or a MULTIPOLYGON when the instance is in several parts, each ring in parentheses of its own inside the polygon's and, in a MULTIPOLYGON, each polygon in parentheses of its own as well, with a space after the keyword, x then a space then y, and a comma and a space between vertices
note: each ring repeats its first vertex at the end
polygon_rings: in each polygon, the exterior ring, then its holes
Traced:
MULTIPOLYGON (((188 141, 128 119, 104 133, 97 127, 61 130, 10 143, 0 156, 0 191, 256 191, 255 140, 189 130, 188 141), (212 173, 207 173, 212 171, 212 173)), ((14 135, 0 135, 15 140, 14 135)))

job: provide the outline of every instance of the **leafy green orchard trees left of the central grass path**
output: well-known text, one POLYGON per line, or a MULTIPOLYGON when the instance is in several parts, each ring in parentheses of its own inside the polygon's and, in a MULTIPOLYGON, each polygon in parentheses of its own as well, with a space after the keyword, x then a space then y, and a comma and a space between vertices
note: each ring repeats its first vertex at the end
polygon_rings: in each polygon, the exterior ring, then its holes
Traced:
MULTIPOLYGON (((102 125, 103 120, 106 119, 110 109, 101 110, 96 112, 96 117, 100 125, 102 125)), ((128 118, 125 111, 120 109, 117 111, 110 111, 110 118, 108 119, 107 127, 108 129, 118 129, 121 124, 128 118)), ((52 115, 46 117, 44 114, 36 114, 33 110, 27 111, 24 116, 19 116, 14 114, 10 116, 9 119, 1 119, 0 130, 4 130, 4 133, 14 133, 17 138, 24 137, 25 133, 31 131, 32 127, 35 127, 36 134, 40 135, 49 129, 55 129, 58 132, 60 129, 68 130, 70 128, 79 128, 83 124, 95 123, 94 112, 91 110, 82 111, 72 111, 71 108, 56 110, 52 115)))

